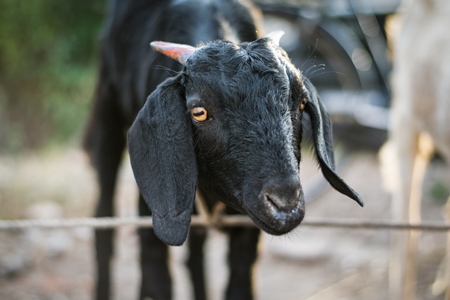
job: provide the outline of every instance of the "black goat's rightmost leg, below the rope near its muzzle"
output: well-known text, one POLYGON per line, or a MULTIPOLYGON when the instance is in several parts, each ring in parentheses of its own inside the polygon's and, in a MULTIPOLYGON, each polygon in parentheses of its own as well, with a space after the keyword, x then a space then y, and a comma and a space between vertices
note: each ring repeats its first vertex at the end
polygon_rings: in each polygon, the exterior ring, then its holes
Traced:
POLYGON ((228 229, 230 246, 228 265, 230 279, 226 291, 227 300, 253 299, 252 271, 258 255, 260 230, 252 227, 228 229))

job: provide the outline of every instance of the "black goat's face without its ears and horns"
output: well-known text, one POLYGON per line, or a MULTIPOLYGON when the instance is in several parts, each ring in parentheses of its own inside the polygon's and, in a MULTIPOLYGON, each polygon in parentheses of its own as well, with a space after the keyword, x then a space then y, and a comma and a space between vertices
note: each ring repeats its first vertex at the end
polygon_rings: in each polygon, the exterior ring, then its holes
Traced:
POLYGON ((207 113, 202 121, 192 117, 199 186, 271 234, 292 230, 304 215, 298 166, 305 93, 280 54, 268 39, 243 47, 218 41, 191 56, 184 77, 188 111, 207 113))

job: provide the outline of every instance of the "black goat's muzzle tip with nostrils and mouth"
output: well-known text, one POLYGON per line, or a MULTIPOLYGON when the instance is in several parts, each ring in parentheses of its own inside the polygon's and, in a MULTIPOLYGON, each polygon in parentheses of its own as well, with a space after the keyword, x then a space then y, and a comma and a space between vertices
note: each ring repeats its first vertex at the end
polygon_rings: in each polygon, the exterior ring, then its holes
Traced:
POLYGON ((300 225, 304 216, 304 201, 298 199, 289 209, 279 209, 270 198, 260 202, 257 209, 248 209, 247 214, 263 231, 271 235, 283 235, 300 225))

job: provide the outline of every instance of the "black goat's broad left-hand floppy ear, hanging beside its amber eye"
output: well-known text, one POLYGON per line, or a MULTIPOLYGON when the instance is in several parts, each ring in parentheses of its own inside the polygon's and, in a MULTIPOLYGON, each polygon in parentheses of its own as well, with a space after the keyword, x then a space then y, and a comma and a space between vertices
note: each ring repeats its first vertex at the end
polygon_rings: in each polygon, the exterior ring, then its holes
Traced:
POLYGON ((148 97, 128 132, 131 167, 153 216, 156 235, 168 245, 186 240, 197 184, 192 125, 179 77, 148 97))

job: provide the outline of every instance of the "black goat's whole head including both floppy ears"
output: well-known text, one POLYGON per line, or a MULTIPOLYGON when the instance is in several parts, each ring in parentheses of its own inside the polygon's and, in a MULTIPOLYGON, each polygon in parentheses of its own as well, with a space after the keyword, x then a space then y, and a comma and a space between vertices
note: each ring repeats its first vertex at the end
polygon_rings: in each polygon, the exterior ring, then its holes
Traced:
POLYGON ((270 234, 297 227, 304 127, 325 178, 362 204, 333 171, 330 121, 314 87, 272 39, 162 52, 184 70, 150 95, 129 132, 133 171, 161 240, 186 239, 197 185, 270 234))

